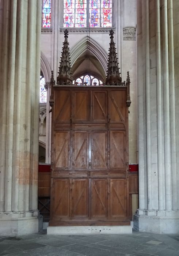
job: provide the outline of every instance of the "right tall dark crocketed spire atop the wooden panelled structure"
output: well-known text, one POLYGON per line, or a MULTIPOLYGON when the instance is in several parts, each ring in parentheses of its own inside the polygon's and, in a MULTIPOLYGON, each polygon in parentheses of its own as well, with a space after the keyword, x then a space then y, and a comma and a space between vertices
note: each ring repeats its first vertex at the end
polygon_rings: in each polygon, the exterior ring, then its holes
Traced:
POLYGON ((108 54, 108 65, 107 65, 107 76, 106 76, 106 84, 121 84, 121 76, 119 73, 119 67, 118 67, 118 58, 114 43, 114 31, 110 30, 110 48, 109 48, 109 54, 108 54))

